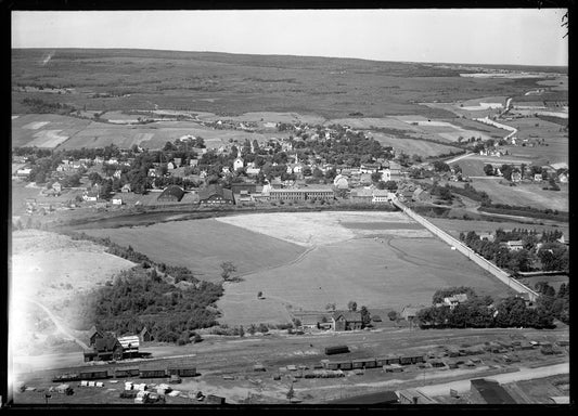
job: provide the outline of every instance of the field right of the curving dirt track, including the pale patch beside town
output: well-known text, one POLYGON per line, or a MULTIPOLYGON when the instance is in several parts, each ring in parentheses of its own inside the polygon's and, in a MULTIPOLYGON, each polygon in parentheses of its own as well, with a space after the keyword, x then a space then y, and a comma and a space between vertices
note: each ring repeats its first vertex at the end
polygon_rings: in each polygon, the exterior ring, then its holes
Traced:
POLYGON ((505 289, 400 212, 251 214, 219 221, 309 247, 288 264, 228 284, 218 302, 220 321, 228 325, 278 323, 283 308, 323 310, 333 302, 346 308, 349 300, 398 310, 427 306, 439 287, 465 285, 491 296, 505 289), (258 291, 265 300, 257 299, 258 291))

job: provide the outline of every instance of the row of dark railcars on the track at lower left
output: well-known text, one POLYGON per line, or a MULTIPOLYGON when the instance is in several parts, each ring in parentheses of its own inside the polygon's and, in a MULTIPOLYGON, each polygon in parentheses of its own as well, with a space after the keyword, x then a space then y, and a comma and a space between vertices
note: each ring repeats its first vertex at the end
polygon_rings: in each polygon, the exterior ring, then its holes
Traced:
POLYGON ((56 375, 52 381, 80 381, 80 380, 102 380, 106 378, 124 378, 124 377, 139 377, 139 378, 163 378, 170 376, 179 377, 194 377, 196 376, 196 367, 120 367, 115 369, 102 370, 86 370, 79 373, 64 373, 56 375))

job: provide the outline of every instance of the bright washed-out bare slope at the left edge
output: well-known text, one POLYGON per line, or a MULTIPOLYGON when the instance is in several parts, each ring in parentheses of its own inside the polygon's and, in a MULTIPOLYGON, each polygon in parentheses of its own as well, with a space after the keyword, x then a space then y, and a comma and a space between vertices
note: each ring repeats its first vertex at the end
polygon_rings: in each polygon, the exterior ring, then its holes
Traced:
POLYGON ((51 347, 62 351, 66 338, 34 302, 56 315, 65 327, 74 327, 77 313, 70 300, 133 265, 104 252, 102 246, 50 232, 14 231, 11 244, 10 316, 17 320, 11 322, 11 339, 18 354, 46 353, 51 347))

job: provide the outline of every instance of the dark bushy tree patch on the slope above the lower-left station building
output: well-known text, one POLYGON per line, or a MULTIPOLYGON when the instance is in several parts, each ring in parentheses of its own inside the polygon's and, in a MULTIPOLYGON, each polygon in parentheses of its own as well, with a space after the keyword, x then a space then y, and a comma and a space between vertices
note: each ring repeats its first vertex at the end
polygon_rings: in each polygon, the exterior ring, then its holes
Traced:
POLYGON ((184 343, 191 332, 217 324, 217 313, 207 307, 221 295, 220 285, 203 282, 182 288, 160 278, 155 269, 139 265, 80 297, 80 317, 87 328, 95 322, 103 330, 137 334, 146 326, 158 341, 184 343))

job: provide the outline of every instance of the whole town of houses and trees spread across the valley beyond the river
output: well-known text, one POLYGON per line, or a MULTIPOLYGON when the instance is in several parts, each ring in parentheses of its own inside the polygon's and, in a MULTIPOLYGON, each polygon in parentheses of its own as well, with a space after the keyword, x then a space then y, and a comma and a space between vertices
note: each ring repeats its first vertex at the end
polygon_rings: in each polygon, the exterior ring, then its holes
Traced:
MULTIPOLYGON (((219 122, 216 125, 220 126, 219 122)), ((236 128, 235 125, 223 125, 236 128)), ((295 138, 272 138, 261 144, 235 139, 218 148, 207 148, 202 138, 187 134, 176 138, 174 143, 167 142, 162 151, 149 151, 140 146, 123 150, 113 145, 101 152, 100 156, 68 156, 53 161, 51 168, 42 172, 48 174, 49 180, 38 198, 26 200, 27 212, 41 208, 43 213, 82 207, 114 209, 156 203, 255 206, 275 202, 330 203, 344 199, 363 204, 387 204, 393 198, 432 202, 433 196, 427 188, 413 185, 413 179, 468 181, 459 165, 450 167, 444 164, 440 168, 433 161, 422 161, 419 156, 412 159, 403 153, 396 155, 393 147, 386 147, 378 154, 359 151, 360 154, 351 155, 351 162, 343 158, 335 162, 335 157, 330 162, 326 157, 317 154, 310 144, 314 143, 314 147, 318 147, 327 141, 347 142, 350 136, 371 143, 372 139, 348 126, 332 129, 303 123, 283 125, 283 130, 287 129, 295 132, 295 138), (201 146, 196 147, 198 144, 201 146), (106 156, 106 153, 111 155, 106 156), (176 154, 181 157, 176 157, 176 154), (136 166, 142 171, 144 156, 147 156, 146 160, 163 161, 147 161, 146 178, 143 179, 131 173, 136 166), (79 179, 74 186, 66 186, 70 177, 79 179), (136 184, 136 181, 140 182, 136 184)), ((508 156, 508 150, 501 145, 526 145, 516 143, 513 135, 496 142, 473 142, 470 154, 477 152, 481 156, 496 158, 496 162, 485 166, 485 174, 503 177, 501 170, 505 168, 506 179, 514 183, 568 182, 566 164, 532 166, 500 162, 500 157, 508 156)), ((540 141, 528 145, 540 145, 540 141)), ((36 151, 26 147, 14 151, 13 161, 21 166, 13 172, 14 180, 34 182, 37 174, 33 165, 36 151)), ((458 151, 457 154, 467 156, 467 152, 458 151)), ((61 152, 63 156, 66 153, 73 152, 61 152)))

